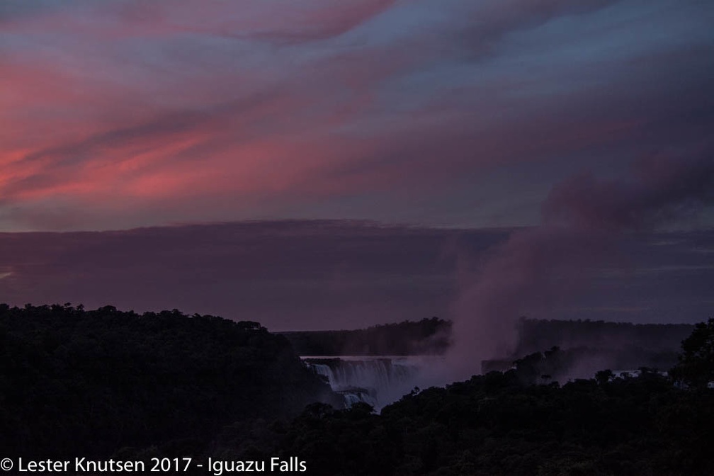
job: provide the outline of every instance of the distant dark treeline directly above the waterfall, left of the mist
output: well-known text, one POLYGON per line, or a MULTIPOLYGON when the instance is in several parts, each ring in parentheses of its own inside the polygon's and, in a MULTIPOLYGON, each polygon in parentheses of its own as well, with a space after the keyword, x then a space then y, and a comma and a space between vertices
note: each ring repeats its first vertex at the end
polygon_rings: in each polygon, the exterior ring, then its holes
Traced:
POLYGON ((441 355, 451 343, 451 321, 439 318, 358 330, 284 332, 299 355, 441 355))

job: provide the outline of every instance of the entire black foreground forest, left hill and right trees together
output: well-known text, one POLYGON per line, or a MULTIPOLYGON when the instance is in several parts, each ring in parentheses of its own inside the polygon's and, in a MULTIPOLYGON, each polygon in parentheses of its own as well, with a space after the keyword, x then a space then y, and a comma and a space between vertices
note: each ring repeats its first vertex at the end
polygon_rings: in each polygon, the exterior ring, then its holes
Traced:
MULTIPOLYGON (((711 475, 714 319, 668 375, 563 385, 558 348, 344 409, 287 338, 206 315, 0 305, 0 447, 27 457, 299 457, 308 475, 711 475)), ((196 474, 206 474, 198 472, 196 474)))

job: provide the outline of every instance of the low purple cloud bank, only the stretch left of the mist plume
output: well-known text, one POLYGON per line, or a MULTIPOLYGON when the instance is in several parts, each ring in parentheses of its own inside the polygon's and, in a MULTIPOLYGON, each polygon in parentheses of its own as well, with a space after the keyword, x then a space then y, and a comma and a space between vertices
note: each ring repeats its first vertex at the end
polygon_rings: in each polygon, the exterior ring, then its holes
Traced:
MULTIPOLYGON (((484 233, 492 243, 498 233, 484 233)), ((273 329, 443 315, 453 233, 341 222, 234 223, 0 236, 13 303, 181 308, 273 329)))

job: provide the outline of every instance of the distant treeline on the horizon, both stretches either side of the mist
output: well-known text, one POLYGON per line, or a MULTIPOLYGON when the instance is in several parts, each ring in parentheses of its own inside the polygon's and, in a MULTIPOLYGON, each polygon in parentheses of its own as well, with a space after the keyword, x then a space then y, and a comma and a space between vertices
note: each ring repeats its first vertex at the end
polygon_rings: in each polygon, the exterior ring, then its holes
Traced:
MULTIPOLYGON (((598 354, 608 365, 626 368, 633 363, 648 363, 666 368, 675 363, 680 342, 692 329, 690 324, 521 318, 516 327, 516 348, 503 361, 510 363, 557 346, 583 356, 598 354)), ((451 321, 425 318, 366 329, 305 330, 281 335, 290 340, 299 355, 441 355, 451 345, 451 331, 451 321)))

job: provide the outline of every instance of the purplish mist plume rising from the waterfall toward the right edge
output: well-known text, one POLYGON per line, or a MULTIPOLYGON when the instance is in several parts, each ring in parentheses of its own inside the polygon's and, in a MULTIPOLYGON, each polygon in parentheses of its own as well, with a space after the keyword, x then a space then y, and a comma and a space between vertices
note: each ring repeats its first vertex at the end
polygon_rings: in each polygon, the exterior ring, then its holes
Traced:
POLYGON ((448 358, 453 378, 479 373, 481 360, 509 355, 518 318, 567 300, 627 233, 679 226, 713 203, 711 157, 653 156, 634 161, 623 178, 584 173, 555 185, 540 225, 514 231, 462 280, 448 358))

